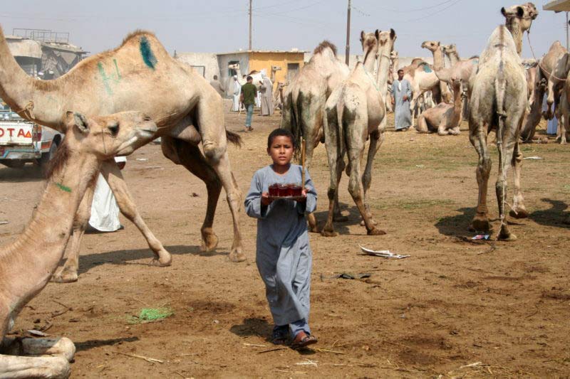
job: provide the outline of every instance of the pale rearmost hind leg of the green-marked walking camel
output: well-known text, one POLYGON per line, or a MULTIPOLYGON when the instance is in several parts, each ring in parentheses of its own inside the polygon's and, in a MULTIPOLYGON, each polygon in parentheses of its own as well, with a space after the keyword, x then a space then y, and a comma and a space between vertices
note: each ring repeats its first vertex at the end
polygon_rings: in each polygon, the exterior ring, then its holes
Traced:
MULTIPOLYGON (((202 136, 202 149, 204 157, 210 166, 216 171, 219 181, 226 191, 226 199, 229 211, 232 213, 234 224, 234 242, 232 251, 229 252, 229 260, 242 262, 246 259, 243 253, 242 233, 239 230, 239 211, 242 209, 243 196, 239 191, 237 181, 232 174, 232 166, 229 164, 227 155, 227 137, 224 127, 224 113, 222 112, 221 100, 218 98, 204 97, 197 105, 197 125, 202 136), (218 102, 218 110, 212 107, 218 102)), ((212 215, 213 217, 213 215, 212 215)))

